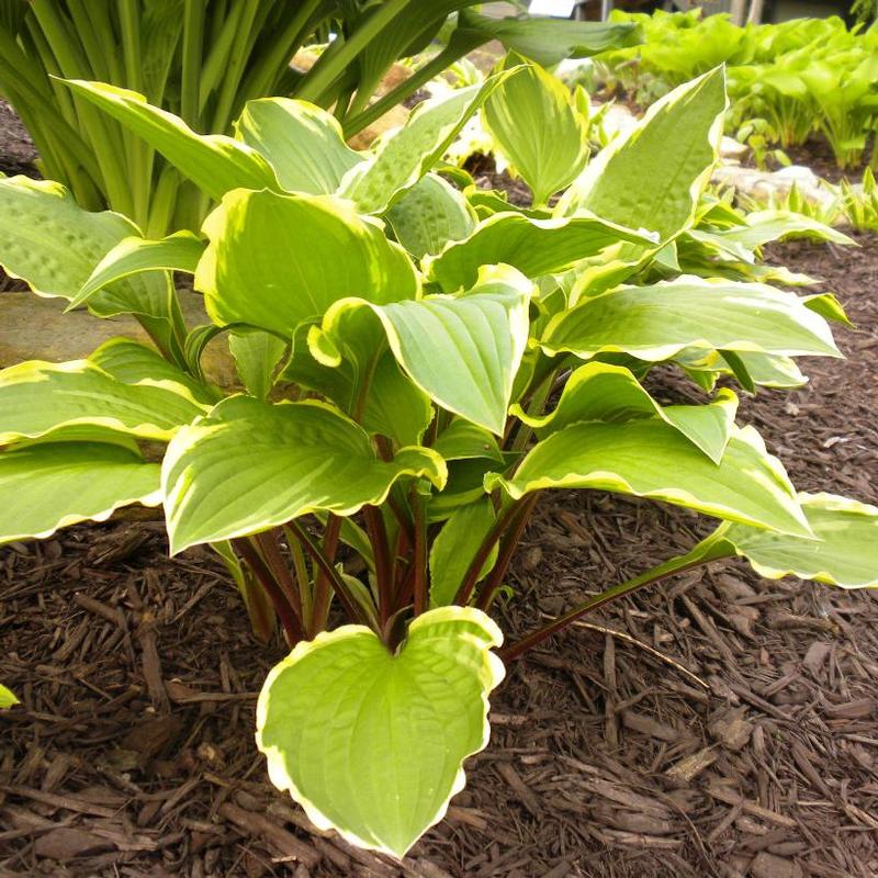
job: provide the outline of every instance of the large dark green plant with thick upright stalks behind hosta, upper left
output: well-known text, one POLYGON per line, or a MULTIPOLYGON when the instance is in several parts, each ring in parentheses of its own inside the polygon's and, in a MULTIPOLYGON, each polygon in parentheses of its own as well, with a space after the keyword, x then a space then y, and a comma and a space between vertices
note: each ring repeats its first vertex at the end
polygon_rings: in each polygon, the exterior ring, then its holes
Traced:
POLYGON ((331 108, 350 136, 488 40, 524 46, 551 63, 638 38, 632 24, 498 21, 468 9, 474 4, 0 0, 0 95, 27 126, 43 176, 64 183, 81 206, 109 206, 153 236, 198 229, 210 196, 188 183, 160 150, 54 77, 133 89, 194 131, 223 136, 232 133, 248 100, 292 94, 331 108), (394 61, 420 53, 440 29, 443 48, 372 102, 394 61), (306 47, 320 53, 314 66, 291 67, 290 59, 306 47))

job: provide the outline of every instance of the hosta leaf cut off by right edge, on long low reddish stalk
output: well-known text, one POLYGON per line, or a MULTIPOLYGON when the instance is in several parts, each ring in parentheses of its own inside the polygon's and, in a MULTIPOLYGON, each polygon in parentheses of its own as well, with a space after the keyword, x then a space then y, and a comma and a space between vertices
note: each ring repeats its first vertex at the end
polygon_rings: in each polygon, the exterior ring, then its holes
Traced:
POLYGON ((719 534, 772 579, 793 575, 843 588, 878 587, 878 507, 833 494, 800 494, 799 503, 817 540, 744 525, 719 534))

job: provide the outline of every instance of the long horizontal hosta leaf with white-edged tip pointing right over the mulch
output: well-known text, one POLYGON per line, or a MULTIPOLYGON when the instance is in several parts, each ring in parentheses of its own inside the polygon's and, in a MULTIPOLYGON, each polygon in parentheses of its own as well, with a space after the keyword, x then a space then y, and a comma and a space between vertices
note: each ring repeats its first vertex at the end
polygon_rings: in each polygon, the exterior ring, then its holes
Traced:
POLYGON ((826 322, 795 294, 686 275, 583 299, 550 322, 540 344, 550 353, 621 351, 653 361, 685 348, 841 356, 826 322))

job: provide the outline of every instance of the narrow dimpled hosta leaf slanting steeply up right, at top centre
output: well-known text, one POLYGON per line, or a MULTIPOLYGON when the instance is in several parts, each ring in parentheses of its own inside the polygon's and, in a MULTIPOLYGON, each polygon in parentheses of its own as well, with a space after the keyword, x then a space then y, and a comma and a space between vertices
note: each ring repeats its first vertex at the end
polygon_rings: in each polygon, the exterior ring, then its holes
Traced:
POLYGON ((382 137, 373 158, 345 177, 338 193, 354 201, 360 213, 383 213, 439 161, 492 89, 516 71, 419 103, 405 125, 382 137))

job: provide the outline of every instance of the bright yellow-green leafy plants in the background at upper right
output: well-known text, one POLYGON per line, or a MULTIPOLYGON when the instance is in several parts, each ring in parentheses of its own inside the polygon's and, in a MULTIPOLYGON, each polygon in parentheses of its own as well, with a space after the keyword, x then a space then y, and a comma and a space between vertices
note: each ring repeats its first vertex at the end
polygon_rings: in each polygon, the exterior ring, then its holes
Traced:
MULTIPOLYGON (((847 29, 838 18, 734 25, 700 10, 653 15, 614 12, 638 22, 645 42, 604 63, 632 94, 662 93, 728 64, 730 128, 754 144, 789 148, 823 135, 840 168, 858 166, 878 122, 878 30, 847 29)), ((873 164, 875 149, 871 149, 873 164)))

